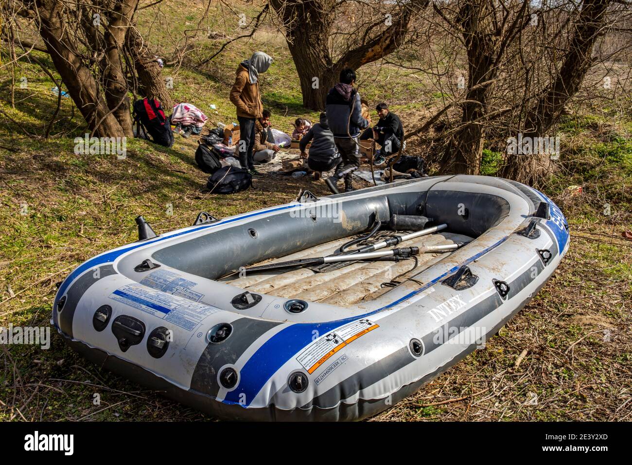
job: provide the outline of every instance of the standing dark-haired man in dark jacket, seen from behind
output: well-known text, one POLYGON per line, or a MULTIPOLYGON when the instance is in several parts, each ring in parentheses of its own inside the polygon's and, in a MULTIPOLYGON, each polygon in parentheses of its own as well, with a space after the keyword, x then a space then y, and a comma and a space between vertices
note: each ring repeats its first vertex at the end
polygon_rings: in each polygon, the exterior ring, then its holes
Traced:
POLYGON ((325 180, 325 184, 334 194, 339 191, 336 183, 344 177, 344 190, 353 190, 351 172, 360 167, 360 131, 367 128, 369 123, 362 117, 362 102, 360 94, 353 88, 355 71, 345 68, 340 72, 340 82, 327 94, 326 111, 329 128, 334 133, 334 142, 342 156, 342 163, 338 165, 336 174, 325 180))

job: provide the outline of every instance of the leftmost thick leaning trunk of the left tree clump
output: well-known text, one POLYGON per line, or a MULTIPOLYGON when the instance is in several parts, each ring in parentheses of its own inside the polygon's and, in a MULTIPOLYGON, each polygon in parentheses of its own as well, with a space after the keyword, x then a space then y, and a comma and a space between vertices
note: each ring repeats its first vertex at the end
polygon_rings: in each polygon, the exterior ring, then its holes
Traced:
POLYGON ((99 97, 99 84, 75 53, 75 44, 71 43, 64 28, 61 12, 64 5, 56 0, 40 0, 38 6, 40 35, 68 94, 82 113, 88 128, 95 135, 123 137, 126 134, 123 127, 116 116, 112 115, 106 102, 99 97))

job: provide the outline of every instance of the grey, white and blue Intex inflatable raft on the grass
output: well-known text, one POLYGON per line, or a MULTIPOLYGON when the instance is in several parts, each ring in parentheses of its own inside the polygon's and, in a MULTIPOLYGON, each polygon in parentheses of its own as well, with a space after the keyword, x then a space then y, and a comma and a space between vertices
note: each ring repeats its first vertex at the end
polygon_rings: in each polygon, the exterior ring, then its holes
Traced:
POLYGON ((137 223, 138 242, 64 280, 52 323, 99 366, 225 419, 387 409, 497 333, 569 242, 544 194, 461 175, 201 213, 160 236, 137 223))

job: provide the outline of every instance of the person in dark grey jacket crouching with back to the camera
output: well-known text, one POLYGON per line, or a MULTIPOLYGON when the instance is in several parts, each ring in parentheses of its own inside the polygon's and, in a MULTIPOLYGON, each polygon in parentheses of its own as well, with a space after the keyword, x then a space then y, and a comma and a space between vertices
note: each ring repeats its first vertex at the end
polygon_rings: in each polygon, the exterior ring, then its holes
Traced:
POLYGON ((307 166, 314 171, 314 179, 319 180, 322 171, 333 170, 340 164, 342 158, 336 150, 334 133, 329 129, 327 113, 320 113, 320 121, 310 128, 298 146, 301 149, 301 157, 307 157, 307 166), (309 156, 305 152, 307 144, 310 146, 309 156))

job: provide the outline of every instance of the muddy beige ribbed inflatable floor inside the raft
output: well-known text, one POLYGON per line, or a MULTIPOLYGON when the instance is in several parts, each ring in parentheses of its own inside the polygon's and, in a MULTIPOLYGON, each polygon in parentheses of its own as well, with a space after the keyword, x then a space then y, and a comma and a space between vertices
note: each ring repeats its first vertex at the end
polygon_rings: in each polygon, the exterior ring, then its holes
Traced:
MULTIPOLYGON (((255 265, 327 256, 336 251, 345 242, 353 239, 353 237, 356 236, 326 242, 310 249, 256 263, 255 265)), ((470 242, 471 240, 473 240, 471 237, 465 235, 442 232, 410 239, 398 244, 397 247, 454 244, 454 242, 470 242)), ((227 276, 222 278, 221 281, 250 292, 257 292, 258 294, 276 295, 277 297, 288 299, 296 298, 347 307, 379 297, 392 288, 382 287, 382 283, 391 282, 391 280, 401 282, 407 277, 413 276, 419 271, 428 268, 428 266, 441 261, 453 252, 420 254, 417 256, 418 262, 415 268, 413 268, 415 265, 415 260, 413 259, 398 263, 394 261, 356 262, 325 273, 316 273, 309 268, 290 271, 270 270, 243 277, 238 275, 227 276)))

